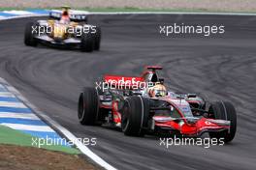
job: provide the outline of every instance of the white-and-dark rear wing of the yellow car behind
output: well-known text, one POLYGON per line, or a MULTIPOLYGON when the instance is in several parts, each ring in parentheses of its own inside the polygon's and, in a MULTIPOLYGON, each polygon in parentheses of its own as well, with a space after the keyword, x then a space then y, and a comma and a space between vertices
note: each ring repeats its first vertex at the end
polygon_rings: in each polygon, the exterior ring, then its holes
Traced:
MULTIPOLYGON (((62 11, 60 10, 52 10, 49 12, 49 17, 54 19, 60 19, 62 11)), ((69 12, 70 20, 74 22, 87 22, 88 13, 82 11, 72 11, 69 12)))

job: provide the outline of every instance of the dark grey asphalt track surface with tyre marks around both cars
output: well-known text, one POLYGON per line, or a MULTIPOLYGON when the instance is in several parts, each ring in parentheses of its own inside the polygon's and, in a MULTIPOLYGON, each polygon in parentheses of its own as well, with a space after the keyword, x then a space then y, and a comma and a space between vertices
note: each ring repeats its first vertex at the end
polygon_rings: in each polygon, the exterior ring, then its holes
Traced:
MULTIPOLYGON (((125 14, 92 15, 102 27, 102 49, 94 53, 23 44, 25 23, 0 22, 0 76, 50 118, 78 137, 97 137, 89 147, 118 169, 256 169, 256 16, 125 14), (209 38, 159 34, 159 24, 223 24, 209 38), (231 100, 238 131, 226 146, 159 146, 157 137, 127 137, 109 128, 82 127, 77 102, 83 86, 104 73, 139 75, 161 65, 174 91, 231 100)), ((35 18, 33 18, 35 19, 35 18)))

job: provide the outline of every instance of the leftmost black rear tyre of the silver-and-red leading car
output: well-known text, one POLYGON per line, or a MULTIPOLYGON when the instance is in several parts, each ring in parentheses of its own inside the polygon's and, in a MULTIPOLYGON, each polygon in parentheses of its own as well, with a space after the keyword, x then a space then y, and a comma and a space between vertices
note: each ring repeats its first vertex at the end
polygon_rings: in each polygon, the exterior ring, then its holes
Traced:
POLYGON ((95 88, 86 87, 80 93, 78 116, 81 125, 95 125, 99 112, 99 97, 95 88))

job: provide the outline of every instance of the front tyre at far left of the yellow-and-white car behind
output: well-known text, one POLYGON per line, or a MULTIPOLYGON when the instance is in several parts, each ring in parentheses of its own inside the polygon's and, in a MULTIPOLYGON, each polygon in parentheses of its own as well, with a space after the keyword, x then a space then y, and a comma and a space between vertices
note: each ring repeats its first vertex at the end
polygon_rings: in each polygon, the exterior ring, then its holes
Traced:
MULTIPOLYGON (((33 27, 38 26, 34 22, 28 22, 25 27, 25 33, 24 33, 24 43, 28 46, 36 46, 37 40, 35 39, 36 33, 33 32, 33 27)), ((38 30, 37 28, 36 30, 38 30)))

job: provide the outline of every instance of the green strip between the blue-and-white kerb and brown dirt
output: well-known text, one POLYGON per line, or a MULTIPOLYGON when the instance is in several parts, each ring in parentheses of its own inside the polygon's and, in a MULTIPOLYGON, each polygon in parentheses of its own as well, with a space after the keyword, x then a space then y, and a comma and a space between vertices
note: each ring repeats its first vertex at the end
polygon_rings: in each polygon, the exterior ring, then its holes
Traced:
MULTIPOLYGON (((32 137, 34 140, 36 139, 36 137, 23 133, 19 130, 0 126, 0 144, 37 147, 35 145, 34 146, 32 145, 32 137)), ((62 145, 42 145, 41 148, 47 149, 50 151, 63 152, 67 154, 74 154, 74 155, 80 154, 80 151, 78 149, 66 147, 62 145)))

